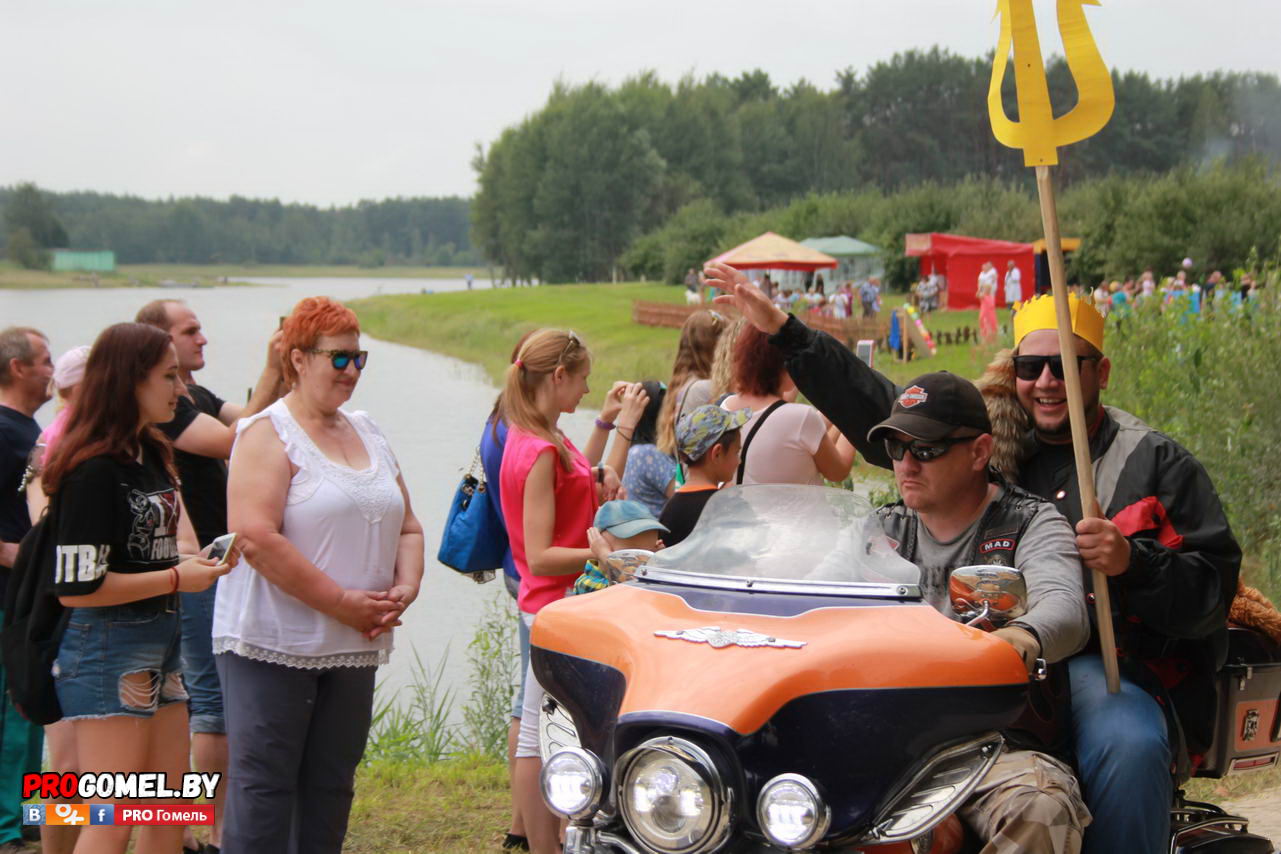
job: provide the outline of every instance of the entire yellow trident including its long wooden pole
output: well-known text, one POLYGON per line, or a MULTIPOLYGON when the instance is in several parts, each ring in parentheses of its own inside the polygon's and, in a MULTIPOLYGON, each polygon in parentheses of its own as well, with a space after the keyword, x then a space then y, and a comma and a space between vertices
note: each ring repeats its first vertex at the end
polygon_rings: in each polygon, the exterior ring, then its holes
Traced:
MULTIPOLYGON (((1049 278, 1054 289, 1054 314, 1058 325, 1059 353, 1075 353, 1072 320, 1067 305, 1067 275, 1063 271, 1063 246, 1058 230, 1058 209, 1054 205, 1054 182, 1050 166, 1058 163, 1058 147, 1079 142, 1103 129, 1112 118, 1116 95, 1094 37, 1085 22, 1084 6, 1099 5, 1099 0, 1058 0, 1058 29, 1067 52, 1067 67, 1076 81, 1079 93, 1076 106, 1054 118, 1049 102, 1049 85, 1045 82, 1045 64, 1041 59, 1040 40, 1036 37, 1036 17, 1032 0, 998 0, 1000 40, 991 67, 991 85, 988 88, 988 114, 997 140, 1012 149, 1024 150, 1024 164, 1036 166, 1036 191, 1040 196, 1041 223, 1045 225, 1045 251, 1049 260, 1049 278), (1009 50, 1015 51, 1015 86, 1018 92, 1018 122, 1011 122, 1000 101, 1000 83, 1009 64, 1009 50)), ((1072 451, 1076 460, 1076 483, 1081 492, 1081 517, 1102 516, 1094 493, 1094 467, 1090 460, 1090 437, 1085 425, 1085 402, 1081 397, 1081 376, 1075 359, 1063 359, 1063 384, 1067 387, 1067 415, 1072 425, 1072 451)), ((1117 670, 1116 636, 1112 629, 1112 600, 1108 579, 1094 570, 1090 574, 1094 604, 1099 626, 1099 649, 1108 691, 1121 690, 1117 670)))

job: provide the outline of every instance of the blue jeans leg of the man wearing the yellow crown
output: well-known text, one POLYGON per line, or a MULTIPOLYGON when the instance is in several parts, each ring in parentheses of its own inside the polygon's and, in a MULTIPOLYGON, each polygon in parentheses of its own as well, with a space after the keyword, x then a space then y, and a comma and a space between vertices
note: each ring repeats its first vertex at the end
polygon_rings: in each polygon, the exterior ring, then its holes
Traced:
POLYGON ((1161 854, 1170 850, 1170 737, 1166 716, 1148 691, 1121 677, 1108 694, 1103 659, 1067 662, 1072 737, 1085 804, 1084 854, 1161 854))

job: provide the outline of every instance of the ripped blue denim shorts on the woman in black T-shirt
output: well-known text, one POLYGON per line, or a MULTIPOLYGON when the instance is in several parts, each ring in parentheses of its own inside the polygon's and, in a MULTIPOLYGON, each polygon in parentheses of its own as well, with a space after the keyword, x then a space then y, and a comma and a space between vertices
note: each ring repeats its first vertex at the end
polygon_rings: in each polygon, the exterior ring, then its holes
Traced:
POLYGON ((151 717, 187 702, 177 602, 167 599, 72 609, 54 662, 63 720, 151 717))

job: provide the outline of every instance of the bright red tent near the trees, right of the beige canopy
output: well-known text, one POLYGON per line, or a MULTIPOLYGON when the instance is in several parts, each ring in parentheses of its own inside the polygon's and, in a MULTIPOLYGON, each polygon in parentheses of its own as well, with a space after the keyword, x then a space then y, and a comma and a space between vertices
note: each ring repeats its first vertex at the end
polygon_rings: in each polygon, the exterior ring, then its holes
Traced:
POLYGON ((1031 243, 988 241, 958 234, 908 234, 906 255, 921 259, 921 273, 942 273, 948 279, 949 309, 979 307, 979 273, 984 261, 997 266, 997 305, 1006 302, 1006 269, 1015 262, 1020 273, 1022 298, 1036 288, 1036 256, 1031 243))

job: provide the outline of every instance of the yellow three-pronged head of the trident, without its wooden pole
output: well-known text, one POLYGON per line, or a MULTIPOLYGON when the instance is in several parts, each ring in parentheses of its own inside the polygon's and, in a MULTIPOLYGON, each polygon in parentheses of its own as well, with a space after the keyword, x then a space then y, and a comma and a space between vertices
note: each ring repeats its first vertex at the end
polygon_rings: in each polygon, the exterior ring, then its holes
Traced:
POLYGON ((999 0, 1000 41, 997 61, 991 67, 988 87, 988 114, 991 132, 1002 145, 1024 150, 1024 165, 1049 166, 1058 163, 1058 147, 1080 142, 1103 129, 1112 118, 1116 95, 1112 74, 1090 35, 1084 6, 1097 6, 1099 0, 1058 0, 1058 31, 1067 52, 1067 67, 1076 81, 1079 99, 1067 115, 1054 118, 1045 82, 1036 17, 1031 0, 999 0), (1018 122, 1006 117, 1000 102, 1000 83, 1009 63, 1009 46, 1015 47, 1015 85, 1018 90, 1018 122))

